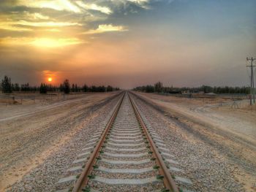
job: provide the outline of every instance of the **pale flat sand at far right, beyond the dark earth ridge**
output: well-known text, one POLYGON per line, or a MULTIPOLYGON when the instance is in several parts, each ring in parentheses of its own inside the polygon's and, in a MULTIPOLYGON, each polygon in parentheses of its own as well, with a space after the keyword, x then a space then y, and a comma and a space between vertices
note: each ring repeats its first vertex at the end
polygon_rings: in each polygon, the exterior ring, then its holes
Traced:
POLYGON ((238 109, 234 109, 233 101, 228 99, 222 100, 220 106, 219 99, 187 99, 151 93, 142 95, 176 114, 214 125, 256 144, 256 109, 250 110, 247 100, 237 101, 238 109))

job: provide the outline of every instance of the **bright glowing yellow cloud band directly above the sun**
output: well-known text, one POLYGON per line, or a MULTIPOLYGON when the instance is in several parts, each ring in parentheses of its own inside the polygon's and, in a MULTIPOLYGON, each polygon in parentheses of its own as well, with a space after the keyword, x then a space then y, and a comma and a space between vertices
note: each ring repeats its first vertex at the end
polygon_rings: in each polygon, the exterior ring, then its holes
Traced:
POLYGON ((85 43, 83 40, 77 38, 31 38, 31 37, 5 37, 0 39, 1 45, 33 45, 36 47, 64 47, 67 45, 77 45, 85 43))

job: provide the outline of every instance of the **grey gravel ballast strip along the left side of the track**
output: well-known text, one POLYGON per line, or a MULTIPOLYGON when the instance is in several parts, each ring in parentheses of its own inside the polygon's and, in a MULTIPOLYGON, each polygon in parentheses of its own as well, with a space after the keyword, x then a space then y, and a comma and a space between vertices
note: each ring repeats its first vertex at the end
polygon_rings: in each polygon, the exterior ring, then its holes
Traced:
POLYGON ((120 96, 111 96, 86 111, 80 117, 84 126, 79 128, 56 153, 51 154, 42 164, 32 169, 8 191, 54 191, 56 183, 66 174, 67 169, 93 136, 95 128, 99 127, 108 117, 118 99, 120 96))

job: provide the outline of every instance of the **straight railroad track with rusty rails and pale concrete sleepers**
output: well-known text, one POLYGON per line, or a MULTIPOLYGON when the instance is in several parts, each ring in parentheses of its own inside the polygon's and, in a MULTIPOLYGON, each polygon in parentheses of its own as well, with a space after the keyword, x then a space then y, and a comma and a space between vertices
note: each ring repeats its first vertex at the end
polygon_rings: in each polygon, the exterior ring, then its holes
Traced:
MULTIPOLYGON (((97 129, 84 153, 79 155, 88 155, 84 166, 72 168, 73 171, 79 169, 80 174, 65 177, 59 183, 72 181, 74 187, 66 189, 72 192, 183 191, 176 185, 176 177, 170 174, 170 167, 162 157, 170 157, 160 150, 165 150, 163 145, 154 130, 146 127, 129 93, 124 93, 107 125, 97 129), (90 142, 97 145, 92 147, 90 142)), ((86 158, 74 162, 84 161, 86 158)), ((171 163, 176 164, 176 161, 171 163)))

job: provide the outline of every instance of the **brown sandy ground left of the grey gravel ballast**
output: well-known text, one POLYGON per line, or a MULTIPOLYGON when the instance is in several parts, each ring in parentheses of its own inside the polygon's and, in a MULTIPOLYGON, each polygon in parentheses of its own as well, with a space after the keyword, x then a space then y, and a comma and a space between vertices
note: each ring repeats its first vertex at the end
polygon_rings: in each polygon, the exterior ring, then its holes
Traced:
POLYGON ((1 105, 0 191, 58 150, 84 126, 85 119, 94 118, 92 107, 116 93, 86 93, 56 101, 1 105))

